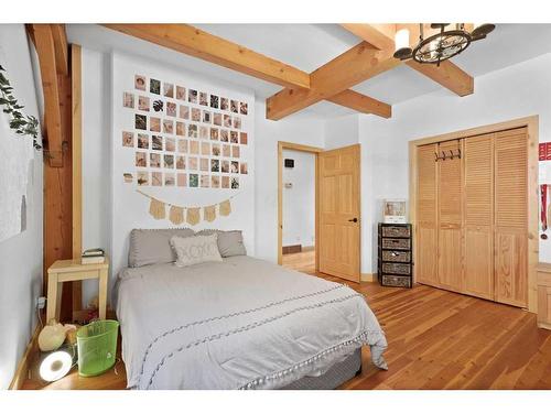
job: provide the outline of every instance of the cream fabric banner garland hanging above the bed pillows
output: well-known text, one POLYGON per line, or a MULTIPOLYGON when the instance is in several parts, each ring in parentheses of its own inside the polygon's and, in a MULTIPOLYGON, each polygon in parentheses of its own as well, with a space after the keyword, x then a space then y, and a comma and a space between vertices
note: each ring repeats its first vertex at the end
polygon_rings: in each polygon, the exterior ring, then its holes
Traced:
POLYGON ((166 218, 166 207, 169 207, 169 219, 174 225, 180 225, 185 221, 190 225, 197 225, 201 222, 201 210, 203 210, 203 220, 212 222, 216 219, 216 209, 218 208, 218 215, 227 217, 231 213, 230 200, 236 197, 236 195, 230 196, 217 204, 210 204, 205 206, 182 206, 165 203, 160 200, 149 194, 145 194, 139 189, 137 192, 151 199, 149 206, 149 214, 155 219, 166 218))

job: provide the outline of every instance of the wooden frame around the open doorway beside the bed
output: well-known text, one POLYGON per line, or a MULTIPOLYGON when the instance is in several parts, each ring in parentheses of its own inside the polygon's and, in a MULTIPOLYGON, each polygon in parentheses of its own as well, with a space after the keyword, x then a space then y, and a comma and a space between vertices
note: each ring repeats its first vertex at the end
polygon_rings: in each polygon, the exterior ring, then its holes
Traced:
POLYGON ((320 269, 317 260, 317 236, 318 236, 318 173, 317 173, 317 154, 323 152, 323 148, 309 146, 300 143, 278 141, 278 264, 282 264, 283 261, 283 150, 292 150, 300 152, 307 152, 314 155, 314 167, 315 167, 315 227, 314 227, 314 256, 315 256, 315 271, 320 269))

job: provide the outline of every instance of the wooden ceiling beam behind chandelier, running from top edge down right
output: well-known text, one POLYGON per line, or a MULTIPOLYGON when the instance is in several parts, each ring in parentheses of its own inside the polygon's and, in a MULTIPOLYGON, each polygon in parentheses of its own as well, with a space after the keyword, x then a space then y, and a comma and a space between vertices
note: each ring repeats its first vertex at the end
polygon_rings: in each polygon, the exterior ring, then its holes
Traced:
MULTIPOLYGON (((402 26, 410 29, 410 40, 417 40, 419 37, 418 24, 346 23, 342 24, 342 26, 380 50, 393 50, 393 33, 396 33, 397 29, 402 26)), ((406 65, 425 75, 458 96, 471 95, 474 91, 473 77, 450 61, 444 61, 440 64, 440 66, 436 66, 431 64, 421 64, 410 59, 406 62, 406 65)))

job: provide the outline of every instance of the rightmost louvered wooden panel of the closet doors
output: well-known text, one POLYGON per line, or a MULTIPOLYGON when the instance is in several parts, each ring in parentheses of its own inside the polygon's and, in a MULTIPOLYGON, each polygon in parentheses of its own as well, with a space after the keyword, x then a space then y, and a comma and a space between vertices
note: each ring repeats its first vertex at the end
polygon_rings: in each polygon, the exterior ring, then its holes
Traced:
POLYGON ((495 295, 528 303, 528 135, 526 128, 496 133, 495 295))

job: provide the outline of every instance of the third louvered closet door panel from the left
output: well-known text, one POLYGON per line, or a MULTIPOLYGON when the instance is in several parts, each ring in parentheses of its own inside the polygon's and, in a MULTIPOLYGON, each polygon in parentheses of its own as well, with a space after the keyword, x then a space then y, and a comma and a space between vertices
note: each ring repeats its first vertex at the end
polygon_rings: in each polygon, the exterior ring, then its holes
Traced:
POLYGON ((465 293, 494 300, 494 134, 464 142, 465 293))

